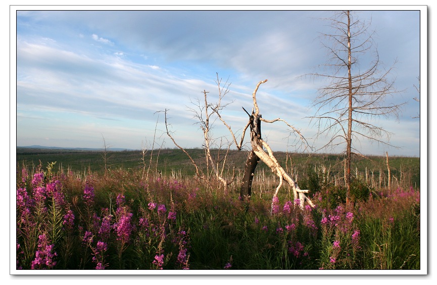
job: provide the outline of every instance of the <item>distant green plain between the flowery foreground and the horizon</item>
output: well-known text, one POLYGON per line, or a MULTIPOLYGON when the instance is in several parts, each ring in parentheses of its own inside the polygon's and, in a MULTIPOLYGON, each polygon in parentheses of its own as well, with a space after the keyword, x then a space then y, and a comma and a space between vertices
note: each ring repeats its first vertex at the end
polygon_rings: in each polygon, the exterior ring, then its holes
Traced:
MULTIPOLYGON (((203 149, 188 149, 187 152, 200 166, 205 166, 205 153, 203 149)), ((73 172, 86 173, 88 170, 97 173, 105 172, 103 151, 64 150, 64 149, 28 149, 17 148, 17 165, 36 167, 40 163, 46 165, 57 161, 56 167, 73 172)), ((224 152, 213 150, 215 157, 223 158, 224 152)), ((279 163, 289 172, 298 174, 298 179, 305 179, 309 167, 325 166, 329 169, 330 176, 341 177, 343 173, 343 157, 335 154, 302 154, 275 152, 279 163), (288 158, 287 158, 288 156, 288 158)), ((247 152, 231 150, 227 161, 229 171, 235 167, 237 177, 244 170, 247 152)), ((217 159, 219 160, 219 159, 217 159)), ((195 174, 195 167, 180 149, 159 149, 148 151, 142 162, 142 153, 137 151, 110 151, 107 152, 107 168, 117 169, 150 169, 162 175, 189 177, 195 174), (152 154, 152 155, 151 155, 152 154), (144 163, 145 162, 145 163, 144 163)), ((418 157, 389 157, 392 182, 394 185, 420 188, 420 158, 418 157)), ((264 176, 271 176, 270 169, 260 163, 256 172, 264 176)), ((353 156, 352 172, 357 177, 362 177, 369 184, 383 187, 387 185, 388 170, 384 156, 353 156), (379 181, 381 179, 381 182, 379 181), (373 182, 372 182, 373 180, 373 182)))

